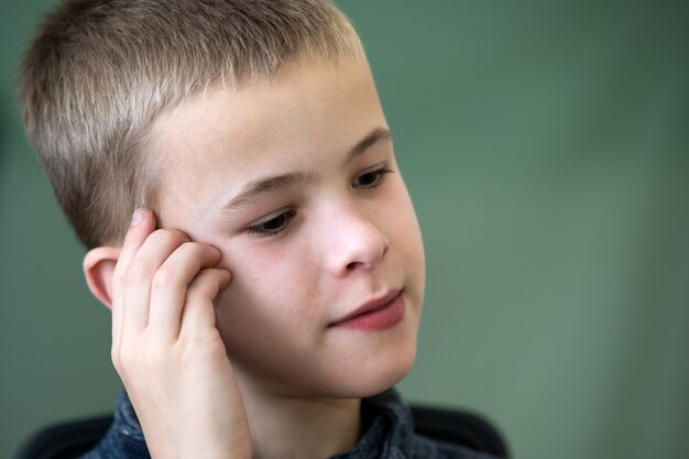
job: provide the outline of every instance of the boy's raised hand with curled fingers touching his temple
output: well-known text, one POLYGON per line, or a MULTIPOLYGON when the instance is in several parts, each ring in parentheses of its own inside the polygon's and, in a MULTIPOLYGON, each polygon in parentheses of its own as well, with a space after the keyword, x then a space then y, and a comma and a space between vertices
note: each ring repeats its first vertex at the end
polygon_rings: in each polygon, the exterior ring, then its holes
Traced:
POLYGON ((153 458, 251 458, 242 400, 216 328, 230 283, 217 249, 134 214, 112 276, 112 362, 153 458))

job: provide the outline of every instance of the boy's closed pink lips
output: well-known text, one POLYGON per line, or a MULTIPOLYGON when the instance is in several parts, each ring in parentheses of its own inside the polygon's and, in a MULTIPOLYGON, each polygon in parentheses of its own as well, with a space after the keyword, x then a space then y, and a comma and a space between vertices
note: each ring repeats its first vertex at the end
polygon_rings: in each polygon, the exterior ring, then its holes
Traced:
POLYGON ((350 330, 381 330, 392 327, 404 318, 403 289, 390 292, 372 299, 329 325, 329 328, 350 330))

